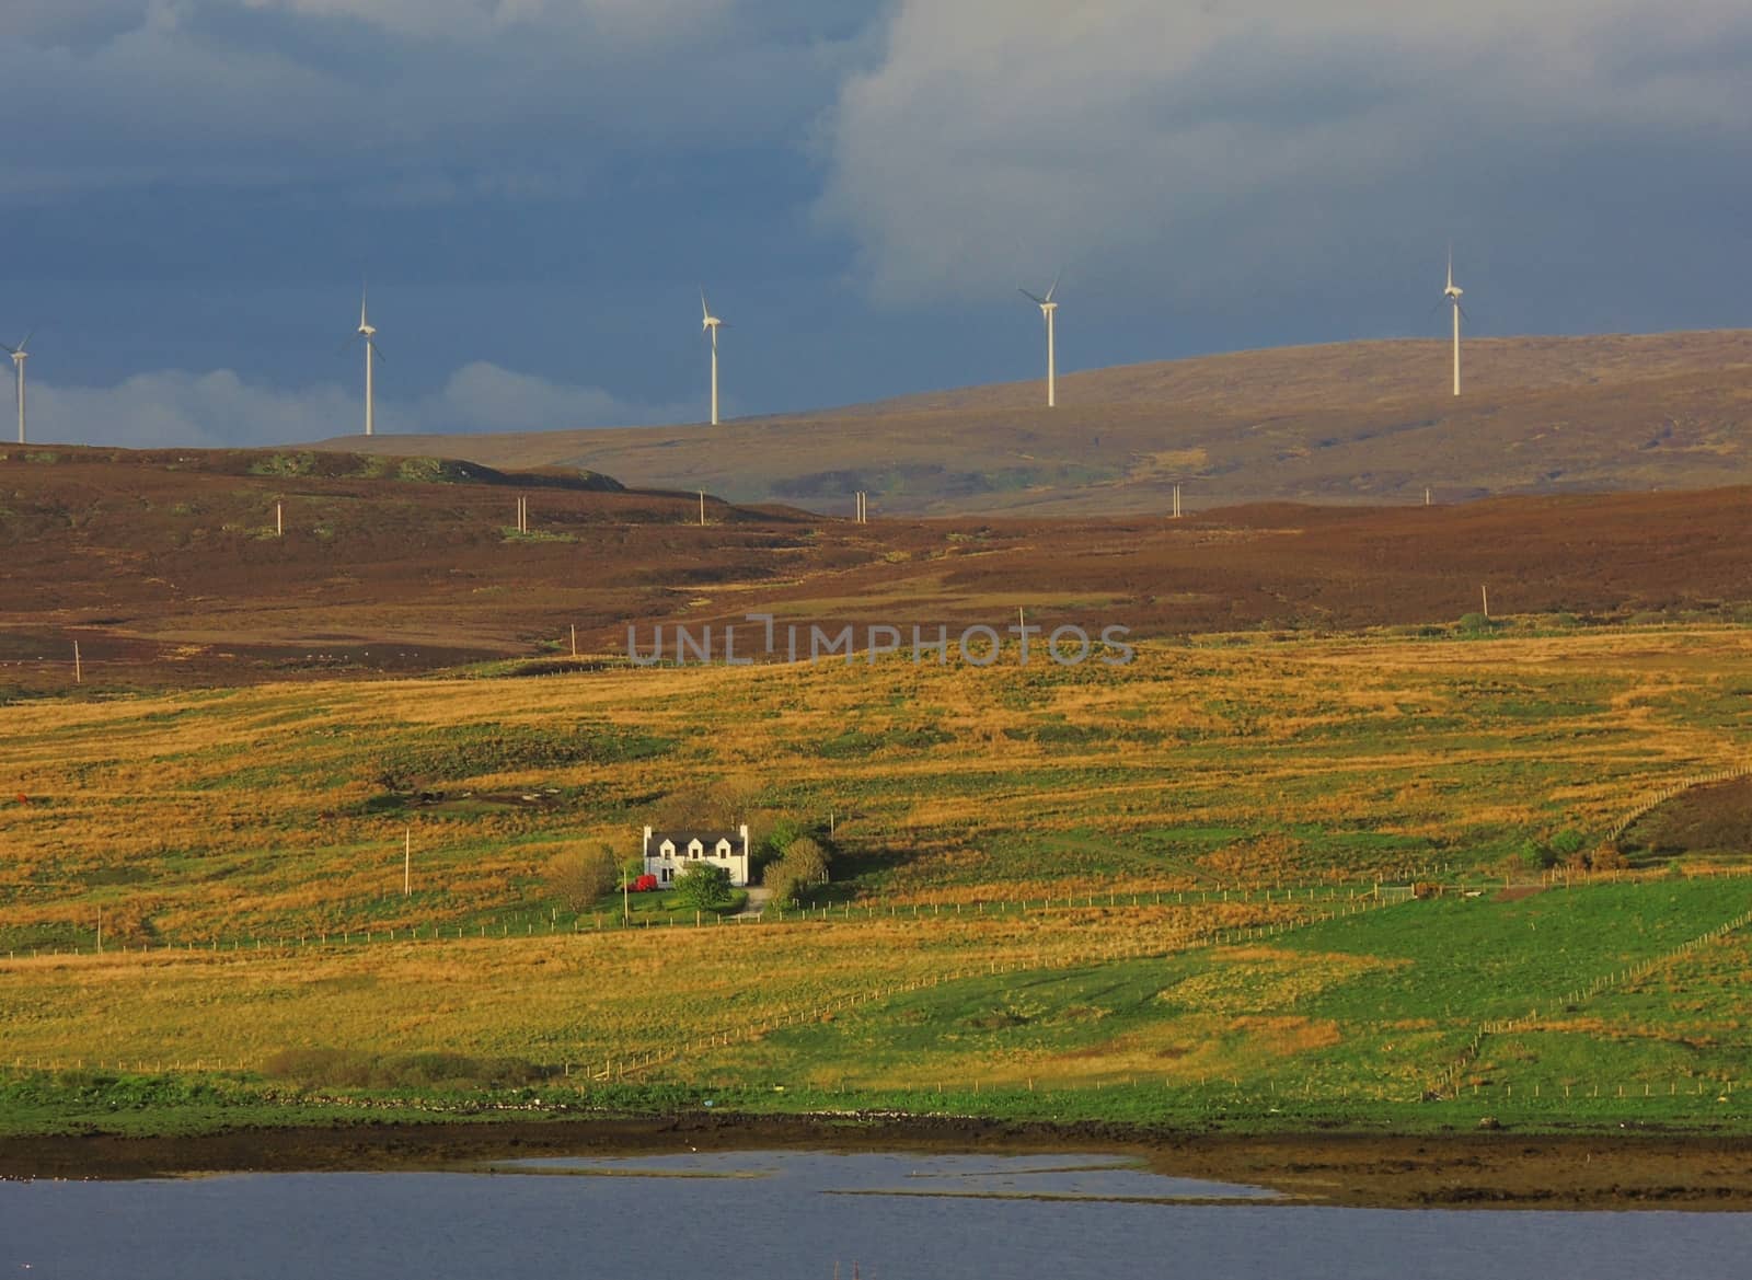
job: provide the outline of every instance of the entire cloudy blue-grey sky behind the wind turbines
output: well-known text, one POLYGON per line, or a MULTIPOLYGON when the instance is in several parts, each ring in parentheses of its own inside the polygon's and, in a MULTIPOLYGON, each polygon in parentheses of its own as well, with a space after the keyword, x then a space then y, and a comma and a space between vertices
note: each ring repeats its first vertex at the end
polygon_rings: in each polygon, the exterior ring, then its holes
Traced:
MULTIPOLYGON (((1752 324, 1745 0, 4 0, 42 441, 697 422, 1752 324)), ((0 401, 0 440, 14 429, 0 401)))

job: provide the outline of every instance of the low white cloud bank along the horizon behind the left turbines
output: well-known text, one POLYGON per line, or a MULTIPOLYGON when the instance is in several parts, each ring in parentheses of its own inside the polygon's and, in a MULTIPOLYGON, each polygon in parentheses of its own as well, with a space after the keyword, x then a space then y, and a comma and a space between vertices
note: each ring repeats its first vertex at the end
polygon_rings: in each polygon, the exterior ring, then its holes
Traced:
MULTIPOLYGON (((32 441, 124 448, 251 448, 361 429, 357 389, 251 385, 230 369, 140 373, 114 387, 28 383, 32 441)), ((622 401, 498 364, 466 364, 442 389, 401 401, 378 396, 382 434, 559 431, 664 422, 680 406, 622 401)))

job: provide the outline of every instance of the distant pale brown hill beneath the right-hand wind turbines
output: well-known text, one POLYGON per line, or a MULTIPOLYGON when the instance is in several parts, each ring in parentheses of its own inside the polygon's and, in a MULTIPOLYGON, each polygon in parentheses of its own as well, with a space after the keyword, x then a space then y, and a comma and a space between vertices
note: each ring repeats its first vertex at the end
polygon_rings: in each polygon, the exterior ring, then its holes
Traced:
MULTIPOLYGON (((1752 480, 1752 333, 1360 341, 1070 373, 720 427, 343 438, 850 511, 1093 515, 1752 480)), ((555 424, 562 427, 564 424, 555 424)))

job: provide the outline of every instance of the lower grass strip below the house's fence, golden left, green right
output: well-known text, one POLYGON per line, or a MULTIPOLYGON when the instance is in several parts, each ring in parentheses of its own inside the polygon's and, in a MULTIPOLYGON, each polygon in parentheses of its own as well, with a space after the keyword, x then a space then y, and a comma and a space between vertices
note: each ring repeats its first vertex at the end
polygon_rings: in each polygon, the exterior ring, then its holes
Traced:
POLYGON ((0 1124, 1740 1124, 1752 879, 14 961, 0 1124), (1724 932, 1726 930, 1726 932, 1724 932), (683 974, 685 981, 666 981, 683 974), (175 1054, 175 1056, 172 1056, 175 1054), (107 1119, 105 1119, 107 1117, 107 1119), (228 1117, 228 1119, 226 1119, 228 1117))

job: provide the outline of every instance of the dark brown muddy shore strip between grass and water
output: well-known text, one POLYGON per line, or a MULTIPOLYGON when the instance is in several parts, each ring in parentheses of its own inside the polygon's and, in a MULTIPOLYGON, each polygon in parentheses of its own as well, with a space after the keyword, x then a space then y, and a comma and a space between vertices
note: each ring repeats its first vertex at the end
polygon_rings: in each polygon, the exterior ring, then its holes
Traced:
POLYGON ((436 1170, 536 1156, 685 1150, 1121 1152, 1162 1173, 1379 1208, 1752 1208, 1752 1138, 1698 1135, 1223 1135, 955 1117, 559 1119, 482 1126, 235 1129, 193 1138, 0 1140, 0 1177, 436 1170))

